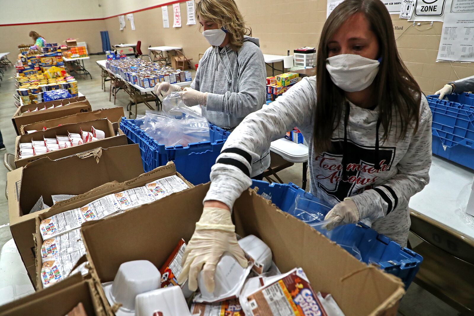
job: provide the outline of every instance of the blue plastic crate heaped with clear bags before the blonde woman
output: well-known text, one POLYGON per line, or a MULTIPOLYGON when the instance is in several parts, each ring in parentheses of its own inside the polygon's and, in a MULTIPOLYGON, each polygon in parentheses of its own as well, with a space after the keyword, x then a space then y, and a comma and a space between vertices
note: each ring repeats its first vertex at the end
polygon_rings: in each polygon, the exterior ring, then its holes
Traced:
POLYGON ((120 130, 128 143, 138 144, 145 172, 173 161, 176 170, 194 185, 209 182, 210 168, 215 164, 230 132, 210 124, 211 141, 191 143, 188 146, 165 146, 140 129, 143 121, 122 118, 120 130))

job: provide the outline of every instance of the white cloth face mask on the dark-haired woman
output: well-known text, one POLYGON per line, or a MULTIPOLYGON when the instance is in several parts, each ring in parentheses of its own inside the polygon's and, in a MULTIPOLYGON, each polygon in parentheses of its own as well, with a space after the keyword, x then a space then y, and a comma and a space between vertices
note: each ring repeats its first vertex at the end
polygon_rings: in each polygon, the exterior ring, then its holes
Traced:
POLYGON ((379 72, 378 60, 360 55, 342 54, 326 59, 331 80, 346 92, 362 91, 374 82, 379 72))

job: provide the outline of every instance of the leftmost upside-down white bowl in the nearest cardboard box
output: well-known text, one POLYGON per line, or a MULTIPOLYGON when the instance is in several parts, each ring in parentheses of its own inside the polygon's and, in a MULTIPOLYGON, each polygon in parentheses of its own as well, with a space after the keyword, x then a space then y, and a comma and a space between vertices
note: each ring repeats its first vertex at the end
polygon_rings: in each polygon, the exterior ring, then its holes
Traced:
POLYGON ((135 297, 160 288, 161 274, 148 260, 124 262, 118 268, 113 282, 102 284, 110 306, 115 303, 122 306, 116 316, 135 315, 135 297))

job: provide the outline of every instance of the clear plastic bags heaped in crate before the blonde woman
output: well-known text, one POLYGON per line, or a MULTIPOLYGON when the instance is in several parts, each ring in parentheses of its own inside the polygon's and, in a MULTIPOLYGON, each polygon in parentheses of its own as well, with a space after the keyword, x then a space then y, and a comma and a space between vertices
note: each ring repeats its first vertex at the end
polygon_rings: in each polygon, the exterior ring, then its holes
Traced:
POLYGON ((208 120, 184 105, 179 93, 170 93, 162 103, 163 112, 147 110, 137 116, 140 129, 166 146, 210 141, 208 120))

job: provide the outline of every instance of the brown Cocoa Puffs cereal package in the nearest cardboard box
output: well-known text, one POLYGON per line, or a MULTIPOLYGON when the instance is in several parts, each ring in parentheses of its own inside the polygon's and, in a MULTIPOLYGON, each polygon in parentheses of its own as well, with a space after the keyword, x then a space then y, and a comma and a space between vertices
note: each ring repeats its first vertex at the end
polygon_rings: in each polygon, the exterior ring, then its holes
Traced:
POLYGON ((246 299, 256 316, 327 316, 301 268, 291 270, 246 299))

